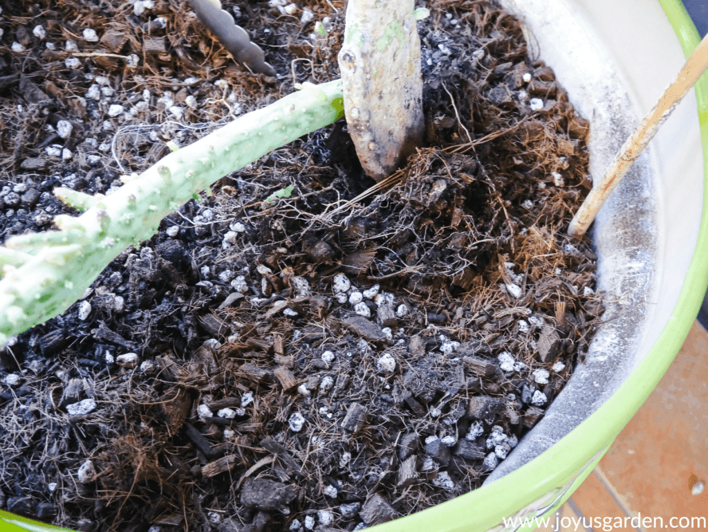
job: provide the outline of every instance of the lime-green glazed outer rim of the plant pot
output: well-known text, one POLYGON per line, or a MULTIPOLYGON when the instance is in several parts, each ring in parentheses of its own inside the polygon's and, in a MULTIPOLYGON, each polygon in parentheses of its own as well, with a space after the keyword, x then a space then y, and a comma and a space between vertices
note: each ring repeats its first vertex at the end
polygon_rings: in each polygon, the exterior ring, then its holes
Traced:
MULTIPOLYGON (((688 56, 700 37, 680 0, 658 0, 688 56)), ((703 205, 708 201, 708 75, 695 86, 704 156, 703 205)), ((510 516, 553 516, 581 485, 620 431, 658 385, 673 362, 700 308, 708 285, 708 213, 702 213, 696 251, 678 302, 656 343, 627 381, 602 407, 554 446, 523 467, 433 508, 367 528, 372 532, 510 532, 533 526, 503 527, 510 516)), ((0 532, 67 531, 0 511, 0 532), (14 523, 8 523, 12 520, 14 523)))

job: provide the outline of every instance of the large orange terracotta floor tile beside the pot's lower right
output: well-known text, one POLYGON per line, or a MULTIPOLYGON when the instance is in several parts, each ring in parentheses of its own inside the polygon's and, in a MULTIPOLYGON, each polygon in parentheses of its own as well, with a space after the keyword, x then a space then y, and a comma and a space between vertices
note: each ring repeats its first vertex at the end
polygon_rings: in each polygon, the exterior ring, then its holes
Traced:
POLYGON ((708 333, 700 324, 599 468, 631 514, 663 519, 646 531, 668 528, 672 517, 708 519, 708 489, 691 493, 697 481, 708 484, 708 333))

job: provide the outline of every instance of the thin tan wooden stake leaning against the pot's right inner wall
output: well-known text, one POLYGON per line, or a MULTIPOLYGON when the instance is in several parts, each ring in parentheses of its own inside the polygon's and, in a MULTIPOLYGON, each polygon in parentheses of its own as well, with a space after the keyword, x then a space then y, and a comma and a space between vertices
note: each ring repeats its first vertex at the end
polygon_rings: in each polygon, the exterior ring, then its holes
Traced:
POLYGON ((632 136, 619 149, 610 166, 605 170, 602 181, 597 186, 593 186, 593 190, 590 191, 588 197, 583 201, 583 205, 573 216, 571 225, 568 227, 568 234, 572 237, 582 237, 585 234, 600 208, 605 205, 605 201, 615 190, 619 181, 622 181, 624 174, 627 174, 639 154, 644 151, 661 125, 666 122, 666 119, 707 68, 708 35, 703 38, 686 64, 683 65, 678 77, 668 86, 656 106, 642 120, 639 128, 636 128, 632 136))

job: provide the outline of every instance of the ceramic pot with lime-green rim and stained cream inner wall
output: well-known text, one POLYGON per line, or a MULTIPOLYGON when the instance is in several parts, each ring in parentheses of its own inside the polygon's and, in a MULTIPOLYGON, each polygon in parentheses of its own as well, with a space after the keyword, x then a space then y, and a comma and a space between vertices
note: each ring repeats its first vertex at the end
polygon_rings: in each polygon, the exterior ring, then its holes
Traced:
MULTIPOLYGON (((595 178, 700 40, 679 0, 501 1, 590 120, 595 178)), ((666 373, 697 315, 708 283, 706 149, 704 76, 595 222, 598 286, 610 295, 611 319, 598 328, 586 364, 481 488, 370 530, 531 529, 504 519, 552 516, 585 480, 666 373)), ((5 530, 18 528, 0 523, 5 530)))

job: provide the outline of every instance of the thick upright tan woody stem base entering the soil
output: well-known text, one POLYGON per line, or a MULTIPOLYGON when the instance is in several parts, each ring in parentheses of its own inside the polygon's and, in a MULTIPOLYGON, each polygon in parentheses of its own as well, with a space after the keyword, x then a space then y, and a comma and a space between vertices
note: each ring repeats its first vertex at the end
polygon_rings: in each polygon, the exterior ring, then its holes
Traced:
POLYGON ((381 181, 423 142, 421 41, 413 0, 349 0, 339 52, 348 131, 381 181))

